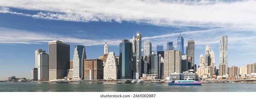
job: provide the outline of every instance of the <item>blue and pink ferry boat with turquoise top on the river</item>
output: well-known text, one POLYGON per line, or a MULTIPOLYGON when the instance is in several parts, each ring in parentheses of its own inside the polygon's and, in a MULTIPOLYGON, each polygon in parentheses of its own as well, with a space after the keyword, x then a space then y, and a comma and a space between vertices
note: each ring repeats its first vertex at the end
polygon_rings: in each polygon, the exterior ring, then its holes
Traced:
POLYGON ((193 80, 176 80, 170 81, 168 85, 177 85, 177 86, 201 86, 201 82, 193 81, 193 80))

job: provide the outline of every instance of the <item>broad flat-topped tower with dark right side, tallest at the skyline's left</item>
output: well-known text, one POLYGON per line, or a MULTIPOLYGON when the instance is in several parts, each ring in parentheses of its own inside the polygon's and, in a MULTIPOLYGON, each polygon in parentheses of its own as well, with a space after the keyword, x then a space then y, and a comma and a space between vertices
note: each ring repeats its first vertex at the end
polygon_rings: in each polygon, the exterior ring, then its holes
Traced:
POLYGON ((49 80, 64 79, 70 68, 70 45, 63 41, 49 42, 49 80))

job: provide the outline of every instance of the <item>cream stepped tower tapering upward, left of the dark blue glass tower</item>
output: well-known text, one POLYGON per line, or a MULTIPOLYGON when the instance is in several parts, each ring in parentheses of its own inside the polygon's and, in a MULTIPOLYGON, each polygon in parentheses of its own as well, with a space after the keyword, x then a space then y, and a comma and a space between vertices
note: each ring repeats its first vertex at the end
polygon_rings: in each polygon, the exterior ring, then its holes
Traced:
POLYGON ((116 80, 117 79, 117 60, 114 52, 108 53, 108 57, 104 66, 104 80, 116 80))

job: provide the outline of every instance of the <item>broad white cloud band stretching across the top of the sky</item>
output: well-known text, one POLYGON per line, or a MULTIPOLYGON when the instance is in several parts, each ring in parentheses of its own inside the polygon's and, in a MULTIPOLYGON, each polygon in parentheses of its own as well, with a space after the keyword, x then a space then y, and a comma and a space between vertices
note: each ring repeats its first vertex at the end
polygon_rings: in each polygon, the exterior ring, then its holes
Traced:
MULTIPOLYGON (((246 1, 161 1, 161 0, 1 0, 0 6, 41 11, 34 18, 75 22, 135 22, 152 25, 196 27, 256 27, 256 5, 246 1), (18 2, 18 3, 14 3, 18 2), (62 2, 62 3, 60 3, 62 2)), ((6 8, 1 13, 9 13, 6 8), (3 11, 5 10, 5 11, 3 11)))

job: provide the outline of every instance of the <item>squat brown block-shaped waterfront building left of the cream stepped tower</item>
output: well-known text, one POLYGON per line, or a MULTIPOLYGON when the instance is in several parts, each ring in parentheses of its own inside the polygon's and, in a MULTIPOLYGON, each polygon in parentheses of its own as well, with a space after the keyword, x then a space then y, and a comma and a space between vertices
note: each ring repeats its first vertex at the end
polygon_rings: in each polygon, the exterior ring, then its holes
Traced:
POLYGON ((103 62, 101 59, 84 60, 84 80, 103 80, 103 62))

